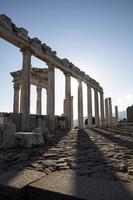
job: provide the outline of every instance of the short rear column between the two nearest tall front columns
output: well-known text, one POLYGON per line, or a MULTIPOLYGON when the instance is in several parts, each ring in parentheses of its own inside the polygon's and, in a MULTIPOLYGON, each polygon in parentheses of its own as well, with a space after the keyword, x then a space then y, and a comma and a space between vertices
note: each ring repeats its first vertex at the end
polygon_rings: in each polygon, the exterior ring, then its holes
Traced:
POLYGON ((42 88, 40 86, 36 87, 37 91, 37 101, 36 101, 36 114, 41 115, 42 114, 42 88))

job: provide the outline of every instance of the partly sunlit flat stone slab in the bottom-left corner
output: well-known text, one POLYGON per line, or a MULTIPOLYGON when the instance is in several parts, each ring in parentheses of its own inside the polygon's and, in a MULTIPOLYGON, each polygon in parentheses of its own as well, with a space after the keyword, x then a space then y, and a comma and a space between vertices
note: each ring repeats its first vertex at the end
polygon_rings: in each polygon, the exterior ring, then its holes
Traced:
POLYGON ((0 174, 0 200, 27 199, 26 185, 45 175, 45 173, 28 169, 5 171, 0 174))

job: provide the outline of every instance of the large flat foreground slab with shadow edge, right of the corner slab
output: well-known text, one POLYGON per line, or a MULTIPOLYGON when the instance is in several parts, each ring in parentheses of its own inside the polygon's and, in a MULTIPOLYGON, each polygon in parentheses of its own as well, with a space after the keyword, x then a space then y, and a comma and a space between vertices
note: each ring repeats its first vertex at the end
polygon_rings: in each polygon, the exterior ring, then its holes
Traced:
POLYGON ((132 200, 133 183, 77 176, 65 170, 29 184, 28 196, 32 200, 132 200))

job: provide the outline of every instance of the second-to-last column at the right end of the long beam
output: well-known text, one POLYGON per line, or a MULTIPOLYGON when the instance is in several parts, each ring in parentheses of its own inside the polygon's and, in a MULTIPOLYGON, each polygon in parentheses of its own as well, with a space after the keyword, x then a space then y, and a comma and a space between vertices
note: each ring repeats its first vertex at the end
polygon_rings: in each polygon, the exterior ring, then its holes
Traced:
POLYGON ((99 127, 99 102, 98 91, 94 89, 94 102, 95 102, 95 125, 99 127))

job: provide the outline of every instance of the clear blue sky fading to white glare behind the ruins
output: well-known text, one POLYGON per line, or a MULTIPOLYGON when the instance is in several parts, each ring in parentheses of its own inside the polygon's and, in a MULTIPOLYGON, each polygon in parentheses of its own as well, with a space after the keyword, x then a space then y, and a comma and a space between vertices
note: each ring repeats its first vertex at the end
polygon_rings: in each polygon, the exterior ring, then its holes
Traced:
MULTIPOLYGON (((0 14, 28 30, 100 83, 104 96, 112 98, 119 111, 133 104, 133 0, 0 0, 0 14)), ((32 57, 33 67, 46 67, 32 57)), ((22 68, 19 49, 0 39, 0 111, 11 112, 11 71, 22 68)), ((64 75, 56 70, 56 110, 63 113, 64 75)), ((77 81, 72 78, 74 118, 77 118, 77 81)), ((43 90, 43 113, 46 91, 43 90)), ((87 115, 83 84, 84 116, 87 115)), ((36 88, 31 86, 31 113, 35 113, 36 88)), ((94 111, 93 111, 94 112, 94 111)))

